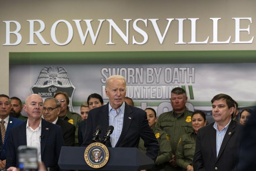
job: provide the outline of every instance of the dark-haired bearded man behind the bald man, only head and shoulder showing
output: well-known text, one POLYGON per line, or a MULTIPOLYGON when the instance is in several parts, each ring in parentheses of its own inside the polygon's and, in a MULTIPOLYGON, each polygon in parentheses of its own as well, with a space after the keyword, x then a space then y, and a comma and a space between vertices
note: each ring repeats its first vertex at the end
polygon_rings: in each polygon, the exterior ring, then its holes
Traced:
POLYGON ((21 119, 23 121, 27 121, 27 117, 21 115, 22 112, 22 104, 21 100, 17 97, 11 98, 11 111, 10 116, 21 119))

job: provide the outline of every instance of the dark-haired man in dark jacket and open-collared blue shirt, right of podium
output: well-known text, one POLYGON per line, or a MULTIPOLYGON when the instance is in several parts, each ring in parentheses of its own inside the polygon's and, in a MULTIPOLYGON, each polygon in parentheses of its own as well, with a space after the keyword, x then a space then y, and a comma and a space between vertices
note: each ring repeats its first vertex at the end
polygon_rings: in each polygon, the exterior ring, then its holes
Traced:
POLYGON ((236 170, 243 126, 232 120, 234 100, 229 95, 218 94, 211 103, 215 122, 197 132, 193 168, 195 171, 236 170))

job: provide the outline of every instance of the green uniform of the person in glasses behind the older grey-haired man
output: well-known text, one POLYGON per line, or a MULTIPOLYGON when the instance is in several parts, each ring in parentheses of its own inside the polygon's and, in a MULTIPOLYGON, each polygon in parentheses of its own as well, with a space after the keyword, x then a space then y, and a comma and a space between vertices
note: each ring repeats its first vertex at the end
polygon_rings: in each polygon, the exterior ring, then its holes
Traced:
POLYGON ((70 112, 69 110, 67 110, 66 115, 59 118, 69 122, 76 127, 74 146, 78 147, 78 124, 82 121, 81 116, 78 113, 70 112))

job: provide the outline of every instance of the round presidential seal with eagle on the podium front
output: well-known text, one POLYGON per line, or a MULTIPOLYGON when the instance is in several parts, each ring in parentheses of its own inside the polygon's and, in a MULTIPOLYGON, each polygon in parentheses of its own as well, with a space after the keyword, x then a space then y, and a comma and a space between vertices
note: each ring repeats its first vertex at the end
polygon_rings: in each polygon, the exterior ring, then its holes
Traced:
POLYGON ((84 160, 92 168, 105 166, 108 163, 108 158, 108 148, 102 143, 92 143, 84 152, 84 160))

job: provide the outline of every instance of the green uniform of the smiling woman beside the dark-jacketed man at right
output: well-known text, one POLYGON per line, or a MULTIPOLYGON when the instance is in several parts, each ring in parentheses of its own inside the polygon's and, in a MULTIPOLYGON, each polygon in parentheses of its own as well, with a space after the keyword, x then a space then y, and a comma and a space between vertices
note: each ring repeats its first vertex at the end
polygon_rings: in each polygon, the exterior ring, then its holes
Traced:
POLYGON ((187 166, 192 166, 193 157, 195 154, 195 132, 189 132, 184 134, 180 138, 180 143, 176 149, 175 161, 178 166, 183 168, 183 171, 187 171, 187 166))

